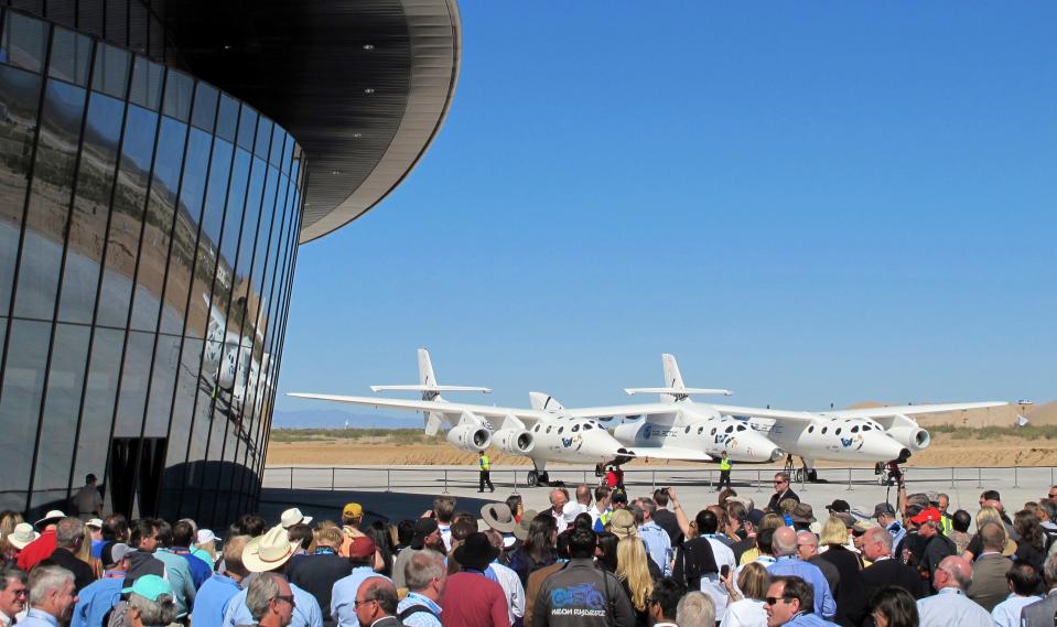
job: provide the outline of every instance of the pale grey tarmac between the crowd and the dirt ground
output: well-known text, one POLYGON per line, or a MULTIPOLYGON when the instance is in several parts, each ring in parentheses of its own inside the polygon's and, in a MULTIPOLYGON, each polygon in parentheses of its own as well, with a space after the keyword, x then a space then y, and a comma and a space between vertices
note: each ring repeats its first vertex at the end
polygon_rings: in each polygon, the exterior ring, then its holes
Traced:
MULTIPOLYGON (((966 509, 975 515, 984 489, 995 489, 1011 514, 1029 500, 1044 498, 1055 483, 1055 467, 1006 468, 905 468, 907 491, 935 490, 950 496, 949 511, 966 509)), ((548 468, 551 482, 563 482, 572 491, 586 483, 598 484, 593 468, 553 466, 548 468)), ((732 474, 733 488, 757 506, 766 505, 774 489, 773 467, 742 467, 732 474)), ((896 489, 880 485, 872 468, 819 468, 819 483, 797 483, 792 489, 815 508, 816 517, 824 517, 826 505, 834 499, 846 500, 853 511, 869 515, 878 502, 896 499, 896 489)), ((466 466, 282 466, 266 467, 261 493, 261 514, 278 519, 287 507, 298 506, 316 520, 338 520, 342 506, 349 501, 364 506, 368 519, 398 521, 418 518, 432 507, 433 498, 447 494, 457 499, 457 510, 479 512, 493 500, 519 494, 526 509, 550 507, 551 487, 528 487, 525 467, 493 467, 495 493, 477 493, 477 471, 466 466)), ((704 466, 656 469, 626 468, 624 483, 628 496, 649 496, 657 487, 676 489, 690 512, 716 501, 715 480, 719 472, 704 466)))

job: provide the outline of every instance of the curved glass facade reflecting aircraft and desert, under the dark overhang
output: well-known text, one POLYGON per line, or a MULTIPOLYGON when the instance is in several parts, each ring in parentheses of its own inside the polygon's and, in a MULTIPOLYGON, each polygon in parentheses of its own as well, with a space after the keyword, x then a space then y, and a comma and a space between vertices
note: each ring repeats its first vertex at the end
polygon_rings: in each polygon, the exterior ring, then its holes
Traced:
POLYGON ((304 188, 267 117, 0 11, 0 509, 228 521, 260 489, 304 188))

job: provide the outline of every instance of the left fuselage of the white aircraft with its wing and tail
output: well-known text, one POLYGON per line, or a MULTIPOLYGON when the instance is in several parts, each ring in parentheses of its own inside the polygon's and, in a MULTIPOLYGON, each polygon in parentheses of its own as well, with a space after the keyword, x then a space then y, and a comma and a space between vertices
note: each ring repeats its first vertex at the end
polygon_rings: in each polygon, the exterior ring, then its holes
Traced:
POLYGON ((492 390, 472 386, 440 386, 433 375, 429 352, 420 348, 418 356, 419 385, 371 386, 370 389, 375 392, 421 392, 422 400, 298 392, 288 392, 287 396, 421 411, 425 433, 435 435, 443 426, 447 430, 447 442, 457 448, 478 453, 494 444, 511 455, 529 457, 533 465, 528 474, 530 486, 548 482, 548 462, 611 462, 619 461, 625 453, 621 443, 595 420, 568 415, 561 411, 449 402, 441 397, 442 392, 488 393, 492 390))

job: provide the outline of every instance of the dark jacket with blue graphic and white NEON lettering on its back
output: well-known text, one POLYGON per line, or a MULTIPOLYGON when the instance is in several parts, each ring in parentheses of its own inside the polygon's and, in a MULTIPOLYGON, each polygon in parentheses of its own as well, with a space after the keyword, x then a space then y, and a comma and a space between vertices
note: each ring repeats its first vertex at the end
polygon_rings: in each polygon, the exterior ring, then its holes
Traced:
POLYGON ((635 613, 621 582, 594 560, 570 560, 547 577, 532 612, 533 627, 633 627, 635 613))

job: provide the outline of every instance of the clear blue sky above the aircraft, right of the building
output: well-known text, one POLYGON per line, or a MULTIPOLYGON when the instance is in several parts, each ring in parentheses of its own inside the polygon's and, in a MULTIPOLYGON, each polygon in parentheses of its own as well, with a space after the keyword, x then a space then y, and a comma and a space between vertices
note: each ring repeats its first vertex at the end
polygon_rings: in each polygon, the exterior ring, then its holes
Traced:
POLYGON ((436 141, 300 250, 280 392, 427 346, 513 406, 664 352, 745 404, 1057 398, 1057 4, 1011 7, 462 2, 436 141))

